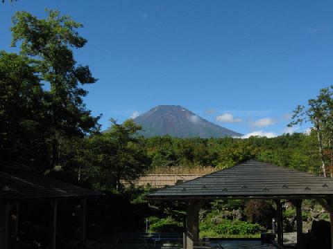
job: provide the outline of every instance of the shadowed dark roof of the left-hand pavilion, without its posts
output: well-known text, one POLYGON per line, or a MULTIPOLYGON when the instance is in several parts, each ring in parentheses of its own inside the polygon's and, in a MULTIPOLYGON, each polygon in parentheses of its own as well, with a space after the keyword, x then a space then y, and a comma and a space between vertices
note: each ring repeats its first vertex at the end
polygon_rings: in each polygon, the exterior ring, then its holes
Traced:
POLYGON ((0 172, 0 199, 67 199, 98 195, 99 192, 33 172, 17 170, 0 172))

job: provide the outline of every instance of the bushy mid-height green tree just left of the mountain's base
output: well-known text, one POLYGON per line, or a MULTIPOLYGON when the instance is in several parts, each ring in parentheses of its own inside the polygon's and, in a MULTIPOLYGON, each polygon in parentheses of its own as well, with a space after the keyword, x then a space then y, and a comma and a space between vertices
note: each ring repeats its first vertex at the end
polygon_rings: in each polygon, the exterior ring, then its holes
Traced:
POLYGON ((150 162, 137 131, 142 127, 133 120, 117 124, 111 119, 110 132, 89 138, 92 169, 100 188, 121 187, 121 180, 134 181, 146 172, 150 162))

